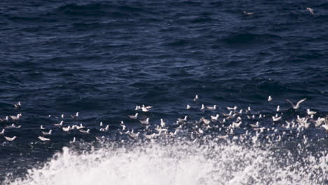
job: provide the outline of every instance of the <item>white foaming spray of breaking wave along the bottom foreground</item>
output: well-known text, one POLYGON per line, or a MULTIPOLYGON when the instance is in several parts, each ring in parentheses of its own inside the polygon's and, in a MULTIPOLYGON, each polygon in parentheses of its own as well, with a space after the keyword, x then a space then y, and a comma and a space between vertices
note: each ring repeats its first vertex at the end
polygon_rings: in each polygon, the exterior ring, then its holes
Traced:
MULTIPOLYGON (((324 184, 327 152, 320 157, 238 144, 104 146, 85 154, 67 147, 43 167, 6 184, 324 184)), ((326 179, 325 179, 326 178, 326 179)))

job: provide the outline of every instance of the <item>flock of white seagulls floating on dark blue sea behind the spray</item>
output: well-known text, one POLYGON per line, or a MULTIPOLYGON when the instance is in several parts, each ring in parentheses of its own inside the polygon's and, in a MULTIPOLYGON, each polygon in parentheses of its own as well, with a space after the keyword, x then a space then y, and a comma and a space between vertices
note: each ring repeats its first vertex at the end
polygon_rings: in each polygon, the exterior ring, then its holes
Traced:
MULTIPOLYGON (((194 102, 200 101, 200 98, 198 95, 193 99, 194 102)), ((271 96, 268 96, 268 102, 272 102, 273 98, 271 96)), ((300 109, 301 104, 306 101, 306 98, 303 100, 299 100, 299 102, 296 102, 294 104, 290 100, 286 100, 291 104, 292 108, 290 109, 300 109)), ((17 104, 13 105, 15 109, 20 109, 22 107, 21 102, 18 102, 17 104)), ((280 123, 281 128, 284 129, 284 134, 288 130, 304 130, 307 128, 310 128, 310 125, 313 125, 315 128, 322 128, 325 130, 325 132, 328 132, 328 116, 325 116, 324 118, 316 117, 315 114, 317 114, 315 111, 311 111, 310 109, 306 109, 306 116, 301 117, 297 115, 297 118, 292 119, 292 121, 285 121, 286 124, 281 123, 281 119, 283 116, 283 111, 280 109, 280 106, 278 105, 276 108, 275 115, 271 117, 268 116, 268 114, 260 114, 254 113, 251 109, 251 107, 247 107, 247 109, 238 109, 238 107, 226 107, 227 112, 222 113, 216 113, 209 118, 205 118, 204 116, 199 119, 199 121, 189 121, 189 116, 183 116, 183 118, 177 118, 177 121, 175 123, 167 125, 163 118, 160 118, 160 123, 153 123, 151 124, 150 118, 146 117, 139 118, 139 114, 146 114, 147 112, 151 111, 153 107, 151 106, 139 106, 137 105, 135 107, 135 111, 137 111, 134 115, 128 115, 128 118, 130 118, 131 121, 139 122, 141 123, 140 126, 145 127, 142 132, 140 130, 139 132, 135 132, 135 130, 129 130, 127 125, 123 121, 121 121, 121 129, 118 129, 118 134, 120 135, 127 135, 128 137, 132 139, 137 139, 140 136, 143 136, 146 139, 152 139, 159 136, 169 136, 174 137, 176 136, 183 128, 184 125, 191 125, 191 128, 193 129, 191 132, 189 132, 191 139, 196 140, 196 135, 203 135, 204 132, 207 130, 210 130, 212 128, 219 129, 219 132, 224 131, 226 135, 218 135, 217 139, 226 139, 228 135, 233 135, 236 129, 243 128, 246 130, 245 135, 250 135, 250 132, 246 128, 252 128, 257 135, 259 133, 264 132, 267 130, 268 132, 270 130, 273 130, 273 132, 278 132, 277 128, 270 128, 271 125, 264 126, 260 123, 261 119, 266 119, 266 122, 270 121, 272 119, 273 125, 275 123, 280 123), (245 121, 246 120, 246 121, 245 121), (250 122, 250 123, 248 123, 250 122), (151 125, 153 126, 153 130, 149 130, 151 125), (152 132, 149 134, 149 132, 152 132)), ((197 110, 199 108, 193 108, 190 104, 186 105, 186 110, 197 110)), ((201 107, 199 109, 200 111, 211 111, 214 112, 217 110, 217 105, 214 105, 212 107, 205 106, 204 104, 201 104, 201 107)), ((287 110, 287 109, 286 109, 287 110)), ((49 115, 51 117, 51 115, 49 115)), ((76 119, 78 121, 78 112, 75 115, 71 115, 72 119, 76 119)), ((17 114, 17 116, 6 116, 6 118, 2 119, 0 118, 0 123, 9 123, 9 125, 4 126, 2 131, 0 132, 0 135, 3 135, 4 138, 9 141, 13 142, 15 139, 17 139, 16 136, 8 137, 5 135, 6 129, 10 128, 21 128, 22 125, 16 125, 16 123, 19 123, 20 119, 22 118, 22 114, 17 114)), ((57 118, 64 118, 64 114, 61 116, 58 116, 57 118)), ((66 125, 66 124, 65 124, 66 125)), ((82 123, 79 125, 67 125, 64 126, 64 121, 60 121, 60 123, 54 123, 53 126, 49 129, 46 129, 43 125, 40 125, 41 134, 39 135, 38 139, 40 139, 43 142, 50 141, 50 135, 53 134, 53 128, 59 128, 62 130, 62 132, 71 132, 71 130, 78 130, 78 132, 81 132, 83 134, 90 134, 90 128, 86 128, 82 123), (47 130, 47 131, 46 131, 47 130)), ((100 129, 101 132, 107 132, 109 130, 109 125, 104 125, 102 122, 100 122, 100 129)), ((292 132, 292 131, 291 131, 292 132)), ((95 137, 97 140, 104 139, 105 137, 95 137)), ((281 139, 281 136, 280 136, 281 139)), ((71 141, 71 143, 76 142, 76 137, 74 137, 71 141)))

